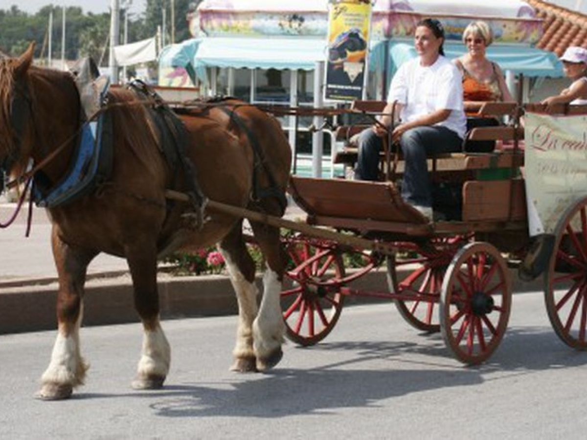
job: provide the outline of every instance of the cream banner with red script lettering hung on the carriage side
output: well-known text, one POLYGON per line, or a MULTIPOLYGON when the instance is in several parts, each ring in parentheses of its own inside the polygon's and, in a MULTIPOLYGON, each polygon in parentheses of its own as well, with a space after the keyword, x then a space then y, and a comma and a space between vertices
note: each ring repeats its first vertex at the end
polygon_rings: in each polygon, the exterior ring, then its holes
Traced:
POLYGON ((587 195, 587 116, 526 112, 524 167, 531 236, 554 233, 565 210, 587 195))

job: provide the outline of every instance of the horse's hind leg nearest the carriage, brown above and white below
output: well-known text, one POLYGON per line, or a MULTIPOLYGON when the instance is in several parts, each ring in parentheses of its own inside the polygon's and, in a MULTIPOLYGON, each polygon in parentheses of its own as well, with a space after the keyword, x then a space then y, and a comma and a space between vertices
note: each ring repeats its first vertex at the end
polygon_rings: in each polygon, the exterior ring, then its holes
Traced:
POLYGON ((279 229, 251 222, 255 239, 265 256, 267 269, 263 276, 263 297, 259 313, 253 323, 253 339, 257 369, 269 370, 283 356, 285 324, 281 313, 281 294, 285 259, 279 238, 279 229))

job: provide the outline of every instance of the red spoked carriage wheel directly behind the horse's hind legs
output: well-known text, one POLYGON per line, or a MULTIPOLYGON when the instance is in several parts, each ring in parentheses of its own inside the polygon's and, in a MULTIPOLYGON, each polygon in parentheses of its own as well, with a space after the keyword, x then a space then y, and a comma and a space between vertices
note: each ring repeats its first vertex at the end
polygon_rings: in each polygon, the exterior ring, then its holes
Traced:
POLYGON ((311 346, 324 339, 339 319, 345 301, 340 293, 345 268, 332 246, 299 240, 290 242, 287 251, 291 265, 281 292, 287 336, 311 346))

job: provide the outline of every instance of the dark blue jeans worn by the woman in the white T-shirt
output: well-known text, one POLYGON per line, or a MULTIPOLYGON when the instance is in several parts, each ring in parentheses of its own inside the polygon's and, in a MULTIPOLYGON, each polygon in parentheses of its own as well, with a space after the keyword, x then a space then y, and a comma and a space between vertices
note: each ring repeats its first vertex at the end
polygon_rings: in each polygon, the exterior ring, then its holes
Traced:
MULTIPOLYGON (((428 155, 455 153, 463 150, 463 139, 446 127, 422 126, 411 128, 400 137, 404 158, 402 198, 410 205, 432 206, 428 176, 428 155)), ((357 180, 379 180, 379 152, 383 140, 372 128, 359 135, 359 158, 355 169, 357 180)))

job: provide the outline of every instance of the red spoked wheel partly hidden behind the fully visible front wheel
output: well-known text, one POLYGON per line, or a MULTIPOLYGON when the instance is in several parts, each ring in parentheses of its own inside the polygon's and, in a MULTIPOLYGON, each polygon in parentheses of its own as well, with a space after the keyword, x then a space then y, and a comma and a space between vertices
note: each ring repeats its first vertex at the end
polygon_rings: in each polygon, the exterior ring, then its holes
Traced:
POLYGON ((387 285, 390 292, 429 296, 429 301, 396 299, 397 311, 411 326, 428 333, 440 331, 438 303, 444 273, 454 254, 463 243, 463 237, 434 238, 426 246, 406 243, 402 258, 387 259, 387 285), (397 271, 407 270, 409 275, 401 282, 397 271))

